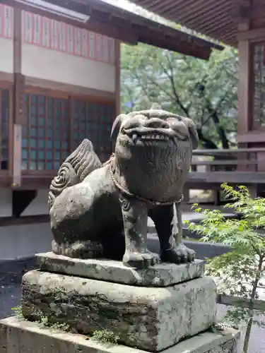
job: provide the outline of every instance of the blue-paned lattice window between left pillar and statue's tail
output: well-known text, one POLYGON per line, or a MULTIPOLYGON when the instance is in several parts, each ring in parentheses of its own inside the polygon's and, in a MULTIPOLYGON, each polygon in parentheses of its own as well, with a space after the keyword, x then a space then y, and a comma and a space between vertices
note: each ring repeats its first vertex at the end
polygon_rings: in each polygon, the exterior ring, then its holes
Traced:
POLYGON ((25 95, 22 168, 59 169, 70 152, 69 101, 45 95, 25 95))

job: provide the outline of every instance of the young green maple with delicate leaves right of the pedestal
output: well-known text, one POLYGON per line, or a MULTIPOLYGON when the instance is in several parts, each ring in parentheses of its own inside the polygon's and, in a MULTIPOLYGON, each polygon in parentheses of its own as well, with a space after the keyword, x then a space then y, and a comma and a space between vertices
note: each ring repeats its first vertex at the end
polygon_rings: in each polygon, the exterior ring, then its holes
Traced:
POLYGON ((247 353, 252 325, 265 326, 260 318, 264 311, 254 310, 254 301, 259 299, 260 280, 264 278, 265 238, 261 233, 265 231, 265 199, 253 199, 245 186, 233 189, 223 184, 222 189, 228 200, 225 207, 240 218, 225 219, 219 210, 201 210, 194 205, 195 212, 203 213, 205 219, 200 224, 186 223, 190 230, 203 236, 202 241, 230 246, 230 252, 207 261, 206 274, 216 277, 220 294, 239 297, 224 320, 237 327, 246 324, 242 352, 247 353), (245 307, 240 298, 247 299, 245 307))

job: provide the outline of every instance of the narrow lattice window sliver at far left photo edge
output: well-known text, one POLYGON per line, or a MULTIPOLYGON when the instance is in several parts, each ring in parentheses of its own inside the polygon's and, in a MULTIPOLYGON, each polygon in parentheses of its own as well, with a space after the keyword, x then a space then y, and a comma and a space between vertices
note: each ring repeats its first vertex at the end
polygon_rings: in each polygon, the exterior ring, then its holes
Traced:
POLYGON ((8 169, 9 90, 0 89, 0 169, 8 169))

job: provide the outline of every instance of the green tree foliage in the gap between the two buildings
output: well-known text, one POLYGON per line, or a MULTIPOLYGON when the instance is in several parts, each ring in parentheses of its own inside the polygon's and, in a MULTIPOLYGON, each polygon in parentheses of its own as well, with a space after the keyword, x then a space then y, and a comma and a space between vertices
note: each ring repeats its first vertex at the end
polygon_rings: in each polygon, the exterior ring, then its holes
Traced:
POLYGON ((228 140, 237 128, 234 49, 214 51, 204 61, 146 44, 124 44, 121 82, 122 112, 159 102, 164 109, 192 118, 203 143, 209 139, 223 148, 231 146, 228 140))

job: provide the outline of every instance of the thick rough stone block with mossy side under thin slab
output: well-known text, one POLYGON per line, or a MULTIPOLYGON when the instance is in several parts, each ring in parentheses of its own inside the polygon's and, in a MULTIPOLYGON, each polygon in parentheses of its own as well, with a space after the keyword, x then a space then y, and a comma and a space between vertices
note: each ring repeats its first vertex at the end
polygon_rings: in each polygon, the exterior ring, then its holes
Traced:
POLYGON ((80 333, 109 328, 124 345, 158 352, 207 330, 216 319, 216 285, 201 277, 171 287, 132 287, 30 271, 23 276, 26 318, 69 323, 80 333))

